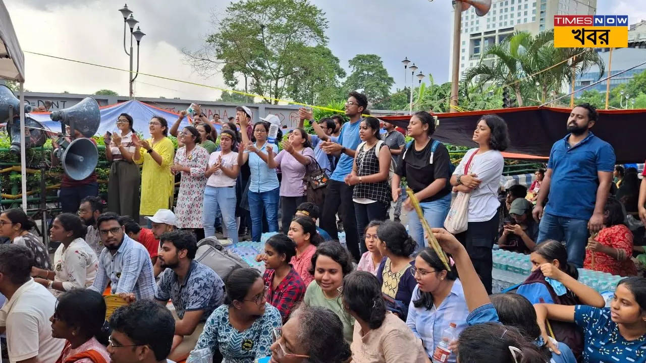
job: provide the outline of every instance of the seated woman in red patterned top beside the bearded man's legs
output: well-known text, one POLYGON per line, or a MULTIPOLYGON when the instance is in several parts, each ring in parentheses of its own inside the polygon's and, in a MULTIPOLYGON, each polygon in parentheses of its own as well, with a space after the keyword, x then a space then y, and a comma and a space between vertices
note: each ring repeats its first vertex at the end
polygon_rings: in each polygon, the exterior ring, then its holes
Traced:
POLYGON ((587 245, 583 267, 612 275, 637 275, 635 264, 630 260, 632 233, 624 224, 621 203, 608 198, 603 218, 605 228, 587 245))

